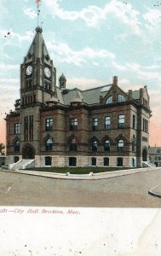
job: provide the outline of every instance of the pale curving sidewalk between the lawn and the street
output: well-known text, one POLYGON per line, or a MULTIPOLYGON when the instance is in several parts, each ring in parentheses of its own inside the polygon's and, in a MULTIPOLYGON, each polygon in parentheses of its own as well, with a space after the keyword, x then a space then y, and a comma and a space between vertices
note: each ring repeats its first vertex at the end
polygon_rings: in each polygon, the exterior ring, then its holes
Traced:
MULTIPOLYGON (((156 168, 156 169, 160 169, 161 171, 161 168, 156 168)), ((69 172, 55 173, 55 172, 36 172, 36 171, 26 171, 26 170, 17 170, 17 171, 0 170, 0 172, 21 173, 25 175, 33 175, 38 177, 49 177, 49 178, 57 178, 57 179, 97 180, 97 179, 125 176, 125 175, 135 174, 138 172, 152 172, 153 170, 154 169, 148 167, 148 168, 129 169, 129 170, 114 171, 114 172, 100 172, 100 173, 90 172, 89 174, 81 174, 81 175, 70 174, 69 172)), ((160 192, 161 192, 161 186, 160 186, 160 192)))

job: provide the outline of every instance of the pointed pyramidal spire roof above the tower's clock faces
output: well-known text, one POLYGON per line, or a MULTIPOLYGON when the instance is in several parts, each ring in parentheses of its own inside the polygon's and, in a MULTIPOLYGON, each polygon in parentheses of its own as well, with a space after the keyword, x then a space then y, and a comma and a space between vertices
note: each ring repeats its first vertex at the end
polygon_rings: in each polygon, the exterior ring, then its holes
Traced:
POLYGON ((43 35, 42 35, 43 29, 40 26, 37 26, 36 28, 36 35, 33 38, 32 44, 27 52, 25 62, 36 62, 37 58, 40 59, 40 61, 44 62, 46 61, 47 63, 52 62, 50 57, 49 57, 49 52, 48 49, 45 45, 43 35))

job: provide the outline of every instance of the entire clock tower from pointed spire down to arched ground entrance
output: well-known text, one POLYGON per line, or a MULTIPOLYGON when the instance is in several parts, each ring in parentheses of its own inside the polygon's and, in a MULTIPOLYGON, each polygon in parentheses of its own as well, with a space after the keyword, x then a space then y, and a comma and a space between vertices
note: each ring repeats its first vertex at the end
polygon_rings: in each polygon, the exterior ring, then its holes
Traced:
POLYGON ((23 63, 20 65, 20 142, 22 158, 34 159, 40 150, 40 108, 56 90, 56 69, 37 26, 23 63))

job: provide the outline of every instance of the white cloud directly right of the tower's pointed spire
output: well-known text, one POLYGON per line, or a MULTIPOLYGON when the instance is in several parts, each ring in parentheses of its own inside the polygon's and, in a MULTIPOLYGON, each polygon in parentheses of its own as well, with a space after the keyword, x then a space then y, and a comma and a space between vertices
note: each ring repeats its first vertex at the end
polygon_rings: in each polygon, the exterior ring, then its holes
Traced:
POLYGON ((115 55, 106 49, 92 49, 86 47, 82 50, 74 51, 66 43, 57 42, 54 44, 48 42, 47 47, 53 52, 53 59, 57 57, 59 62, 67 62, 76 66, 82 66, 83 63, 87 63, 89 60, 115 59, 115 55))

